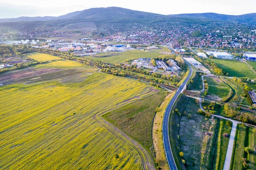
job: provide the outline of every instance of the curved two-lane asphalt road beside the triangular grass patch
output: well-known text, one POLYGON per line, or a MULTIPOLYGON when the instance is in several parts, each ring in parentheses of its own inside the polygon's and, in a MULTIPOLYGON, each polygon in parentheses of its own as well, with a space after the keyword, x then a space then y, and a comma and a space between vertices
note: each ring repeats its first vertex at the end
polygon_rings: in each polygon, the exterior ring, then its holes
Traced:
POLYGON ((185 61, 185 63, 189 66, 189 75, 186 78, 186 80, 183 82, 183 84, 180 85, 177 92, 173 96, 172 100, 168 104, 168 106, 166 108, 166 112, 164 114, 164 118, 163 118, 163 145, 164 145, 166 158, 167 158, 170 170, 177 170, 177 166, 175 164, 175 160, 172 155, 172 149, 171 149, 171 144, 170 144, 170 139, 169 139, 169 117, 170 117, 170 113, 171 113, 173 104, 177 100, 180 93, 182 93, 183 90, 185 89, 185 85, 187 84, 187 82, 189 81, 189 78, 192 76, 192 73, 193 73, 193 69, 189 65, 189 63, 187 63, 186 61, 185 61))

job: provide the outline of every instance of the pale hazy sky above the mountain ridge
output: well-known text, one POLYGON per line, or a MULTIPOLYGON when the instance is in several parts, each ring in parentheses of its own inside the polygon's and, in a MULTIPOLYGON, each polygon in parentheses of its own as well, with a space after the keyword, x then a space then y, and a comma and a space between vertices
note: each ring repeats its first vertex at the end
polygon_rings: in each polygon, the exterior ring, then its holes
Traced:
POLYGON ((256 0, 0 0, 0 18, 59 16, 110 6, 158 14, 256 12, 256 0))

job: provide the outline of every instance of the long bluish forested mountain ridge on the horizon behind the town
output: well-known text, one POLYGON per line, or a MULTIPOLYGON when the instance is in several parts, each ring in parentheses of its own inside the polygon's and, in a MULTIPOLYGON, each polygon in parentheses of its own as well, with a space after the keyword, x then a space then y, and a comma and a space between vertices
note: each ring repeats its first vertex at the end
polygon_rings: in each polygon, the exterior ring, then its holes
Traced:
POLYGON ((220 20, 226 22, 238 22, 256 25, 256 13, 242 14, 242 15, 227 15, 217 13, 191 13, 191 14, 155 14, 150 12, 141 12, 121 7, 107 7, 107 8, 91 8, 82 11, 71 12, 58 17, 18 17, 18 18, 5 18, 0 19, 0 22, 29 22, 29 21, 44 21, 48 22, 56 20, 63 23, 72 23, 72 20, 91 21, 96 24, 128 21, 136 23, 149 23, 153 20, 168 20, 168 21, 181 21, 181 22, 194 22, 204 23, 213 20, 220 20))

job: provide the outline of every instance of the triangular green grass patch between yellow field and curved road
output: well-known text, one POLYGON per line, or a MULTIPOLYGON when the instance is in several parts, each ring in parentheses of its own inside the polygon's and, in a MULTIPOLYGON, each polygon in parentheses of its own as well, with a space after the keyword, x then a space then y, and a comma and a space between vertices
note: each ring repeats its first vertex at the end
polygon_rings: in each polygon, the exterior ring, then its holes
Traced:
POLYGON ((103 117, 131 135, 143 146, 153 150, 152 125, 156 108, 160 106, 166 92, 157 92, 119 109, 106 113, 103 117))

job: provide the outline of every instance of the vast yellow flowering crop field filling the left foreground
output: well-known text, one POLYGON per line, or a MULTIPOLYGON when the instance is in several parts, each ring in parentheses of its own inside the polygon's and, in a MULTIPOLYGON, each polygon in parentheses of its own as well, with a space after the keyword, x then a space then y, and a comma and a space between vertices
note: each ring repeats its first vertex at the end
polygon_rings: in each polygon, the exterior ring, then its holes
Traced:
MULTIPOLYGON (((73 72, 77 64, 55 61, 33 69, 68 66, 62 71, 73 72)), ((151 95, 154 88, 88 66, 79 70, 76 76, 0 86, 0 169, 143 168, 149 153, 101 115, 151 95)))

